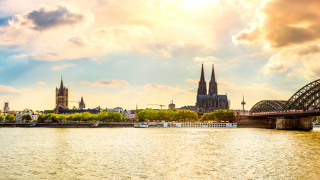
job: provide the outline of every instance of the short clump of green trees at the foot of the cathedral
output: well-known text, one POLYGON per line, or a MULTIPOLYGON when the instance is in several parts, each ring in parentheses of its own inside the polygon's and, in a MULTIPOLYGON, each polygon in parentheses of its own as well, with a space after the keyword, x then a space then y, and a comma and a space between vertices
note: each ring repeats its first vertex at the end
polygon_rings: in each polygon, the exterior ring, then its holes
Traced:
POLYGON ((232 110, 215 110, 211 113, 204 113, 202 116, 203 121, 229 121, 232 122, 236 119, 236 114, 232 110))

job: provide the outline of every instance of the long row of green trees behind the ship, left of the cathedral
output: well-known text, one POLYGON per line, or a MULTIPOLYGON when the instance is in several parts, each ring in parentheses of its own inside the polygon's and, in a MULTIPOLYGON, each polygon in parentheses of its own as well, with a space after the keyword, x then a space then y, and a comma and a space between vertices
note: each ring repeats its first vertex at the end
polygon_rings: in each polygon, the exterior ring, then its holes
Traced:
POLYGON ((165 120, 165 121, 199 121, 198 115, 194 111, 190 110, 176 110, 172 108, 170 110, 136 110, 137 119, 139 121, 148 120, 165 120))

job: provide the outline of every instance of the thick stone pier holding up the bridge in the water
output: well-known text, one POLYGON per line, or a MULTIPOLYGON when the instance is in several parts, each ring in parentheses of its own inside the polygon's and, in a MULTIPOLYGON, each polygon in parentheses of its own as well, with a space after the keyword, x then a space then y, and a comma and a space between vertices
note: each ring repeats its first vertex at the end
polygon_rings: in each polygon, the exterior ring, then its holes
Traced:
POLYGON ((311 117, 298 117, 298 118, 277 118, 276 129, 279 130, 312 130, 313 123, 311 117))

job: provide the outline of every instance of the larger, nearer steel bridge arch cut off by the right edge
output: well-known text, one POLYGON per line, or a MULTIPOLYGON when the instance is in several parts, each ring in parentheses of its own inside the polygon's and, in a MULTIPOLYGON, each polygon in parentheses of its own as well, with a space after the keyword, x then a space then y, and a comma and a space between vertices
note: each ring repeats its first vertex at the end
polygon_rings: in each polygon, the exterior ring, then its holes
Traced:
POLYGON ((285 110, 319 109, 320 79, 310 82, 291 96, 285 104, 285 110))

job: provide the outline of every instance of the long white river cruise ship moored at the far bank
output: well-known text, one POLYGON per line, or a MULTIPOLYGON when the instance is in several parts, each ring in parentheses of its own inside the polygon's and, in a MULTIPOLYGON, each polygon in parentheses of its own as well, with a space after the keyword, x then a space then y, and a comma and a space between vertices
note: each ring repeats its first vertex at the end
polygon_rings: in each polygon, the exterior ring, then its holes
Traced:
POLYGON ((135 123, 135 128, 237 128, 236 123, 135 123))

